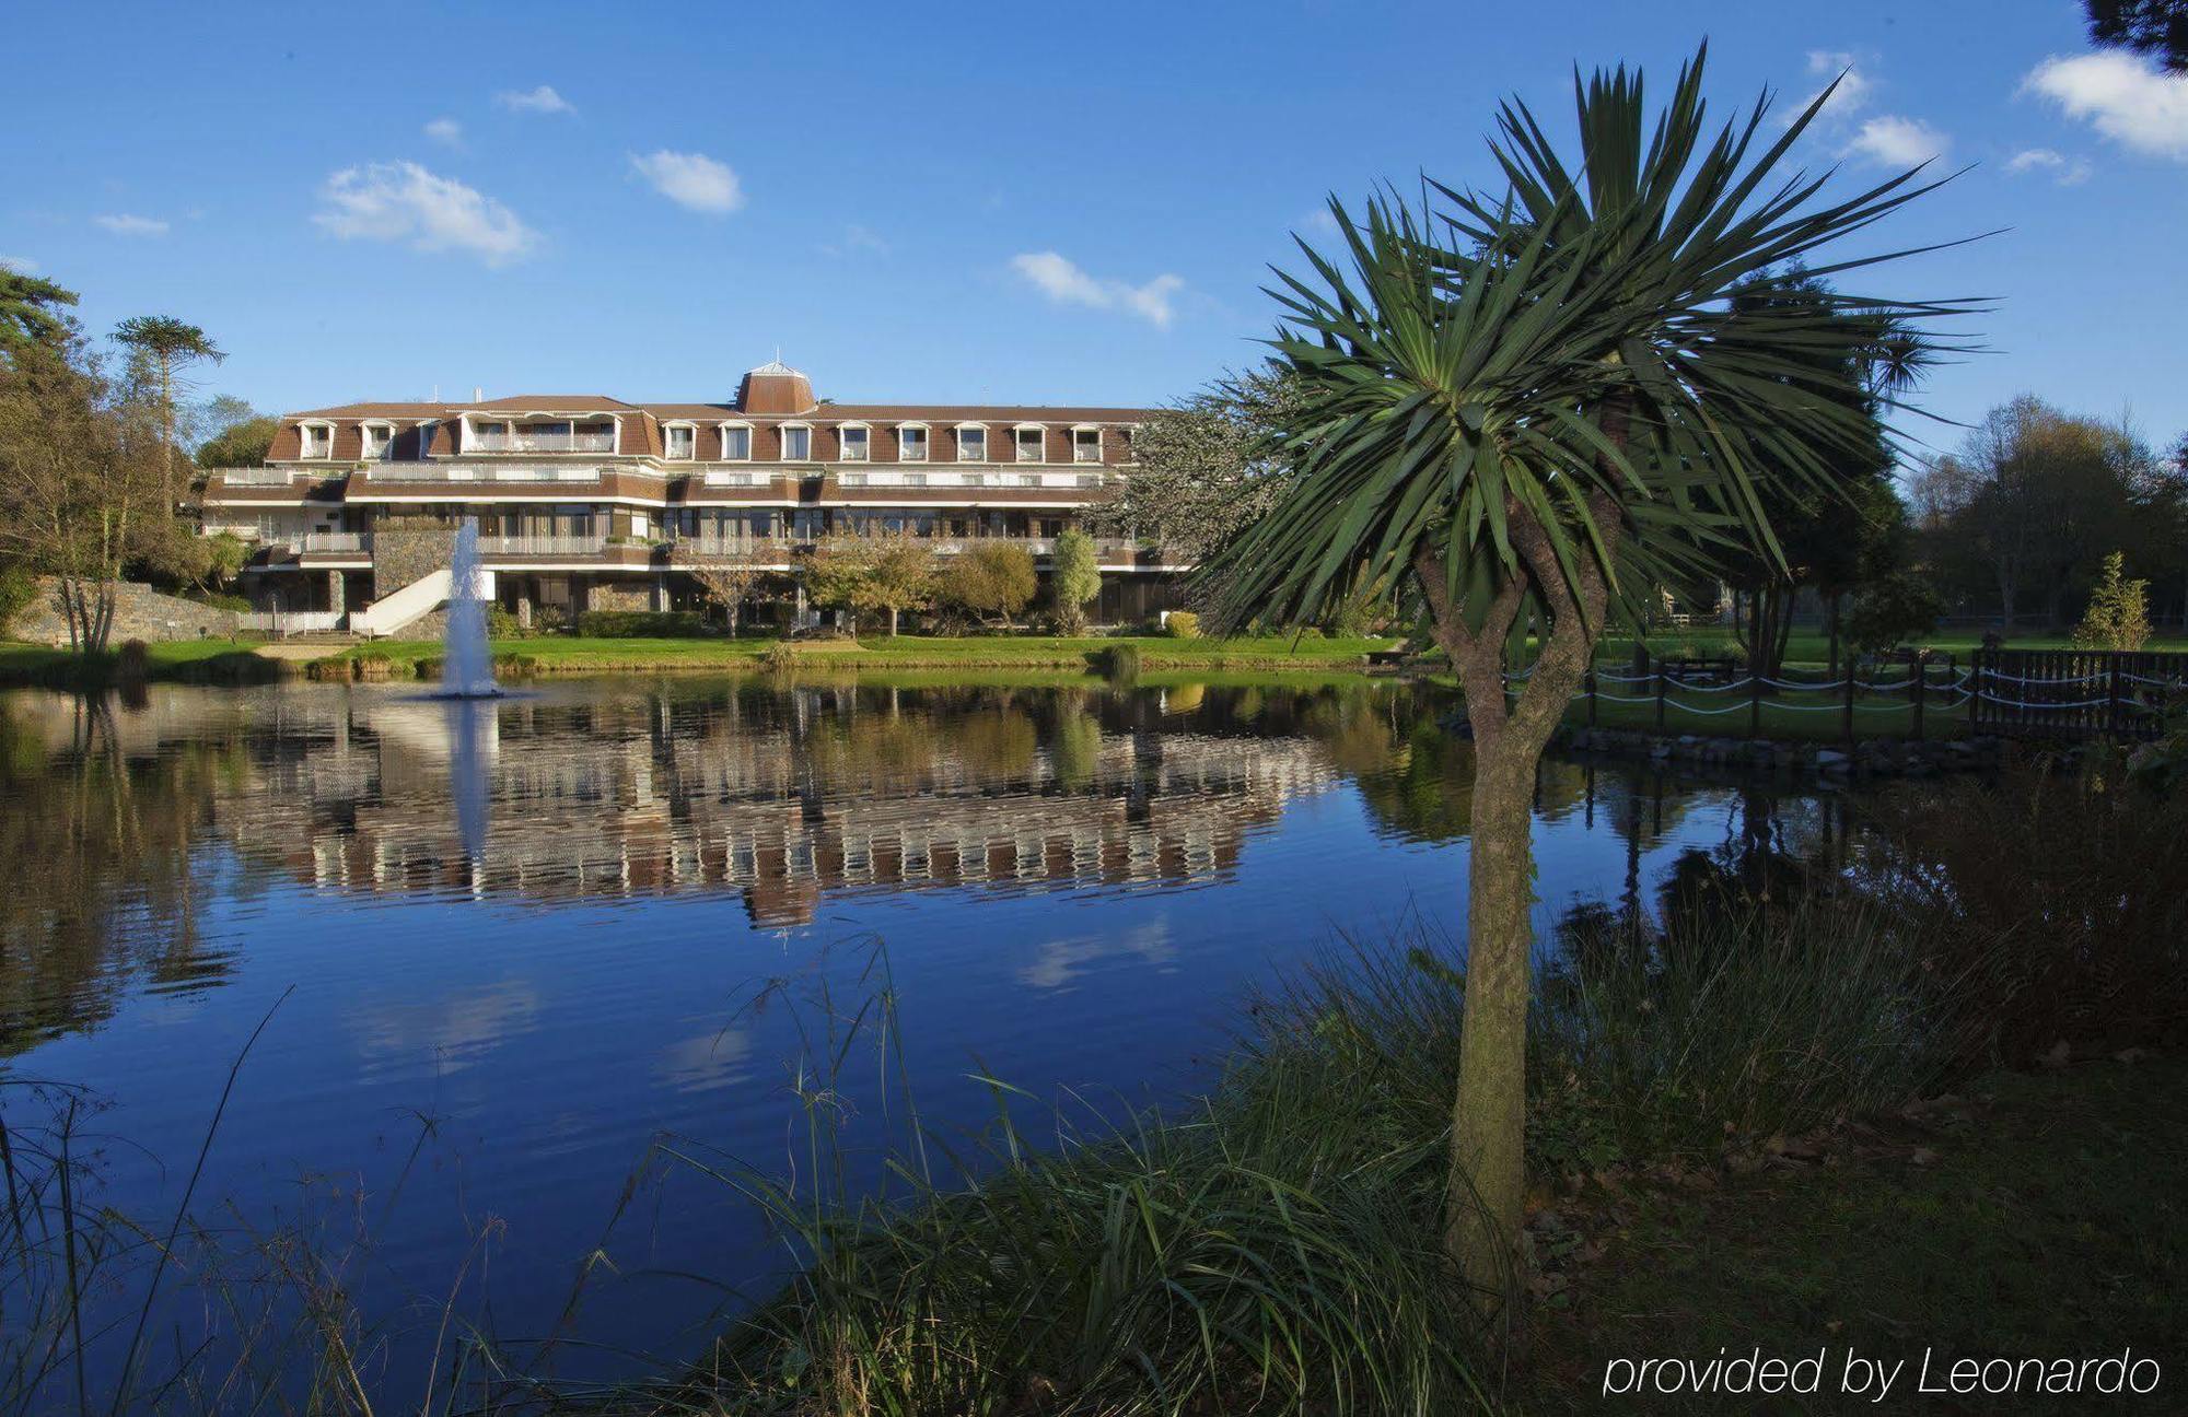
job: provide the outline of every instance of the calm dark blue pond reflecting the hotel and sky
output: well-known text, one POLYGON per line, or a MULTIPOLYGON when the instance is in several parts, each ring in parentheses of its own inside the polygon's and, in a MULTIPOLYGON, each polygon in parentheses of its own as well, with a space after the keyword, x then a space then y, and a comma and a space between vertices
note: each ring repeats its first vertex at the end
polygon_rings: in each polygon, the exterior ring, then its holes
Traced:
MULTIPOLYGON (((853 1135, 906 1100, 980 1126, 980 1078, 1035 1133, 1179 1096, 1254 986, 1462 921, 1451 708, 1389 680, 11 691, 0 1117, 83 1089, 96 1198, 166 1216, 265 1021, 197 1211, 348 1246, 368 1314, 462 1268, 497 1334, 602 1345, 578 1367, 689 1354, 781 1260, 683 1168, 615 1220, 650 1144, 810 1183, 796 1067, 860 1008, 827 1100, 853 1135), (595 1251, 608 1295, 569 1316, 595 1251)), ((1553 761, 1543 907, 1844 835, 1831 794, 1553 761)))

